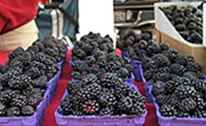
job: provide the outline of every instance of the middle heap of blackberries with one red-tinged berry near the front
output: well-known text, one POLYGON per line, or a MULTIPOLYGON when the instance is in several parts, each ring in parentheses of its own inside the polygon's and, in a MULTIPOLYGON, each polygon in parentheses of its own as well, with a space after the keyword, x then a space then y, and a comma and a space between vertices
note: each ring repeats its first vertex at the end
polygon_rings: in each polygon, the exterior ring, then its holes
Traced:
POLYGON ((115 55, 109 36, 89 33, 74 44, 72 80, 63 115, 142 115, 144 97, 124 83, 132 66, 115 55))

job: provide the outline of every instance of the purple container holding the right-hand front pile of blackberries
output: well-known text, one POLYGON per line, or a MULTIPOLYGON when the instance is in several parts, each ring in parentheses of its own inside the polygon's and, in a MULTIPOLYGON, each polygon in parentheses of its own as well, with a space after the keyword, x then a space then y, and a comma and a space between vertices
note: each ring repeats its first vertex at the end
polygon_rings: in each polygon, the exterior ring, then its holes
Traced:
POLYGON ((159 111, 158 101, 152 94, 152 86, 148 87, 149 94, 157 109, 156 114, 160 126, 206 126, 206 118, 191 118, 191 117, 164 117, 159 111))

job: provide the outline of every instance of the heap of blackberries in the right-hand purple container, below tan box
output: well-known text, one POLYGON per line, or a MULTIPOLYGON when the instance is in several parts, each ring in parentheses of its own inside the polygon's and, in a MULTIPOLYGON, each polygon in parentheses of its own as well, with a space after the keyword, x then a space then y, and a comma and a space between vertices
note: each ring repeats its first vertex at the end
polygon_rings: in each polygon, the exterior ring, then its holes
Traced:
POLYGON ((206 117, 206 81, 201 66, 191 56, 165 44, 157 45, 149 33, 127 32, 118 47, 128 57, 142 61, 144 76, 166 117, 206 117))

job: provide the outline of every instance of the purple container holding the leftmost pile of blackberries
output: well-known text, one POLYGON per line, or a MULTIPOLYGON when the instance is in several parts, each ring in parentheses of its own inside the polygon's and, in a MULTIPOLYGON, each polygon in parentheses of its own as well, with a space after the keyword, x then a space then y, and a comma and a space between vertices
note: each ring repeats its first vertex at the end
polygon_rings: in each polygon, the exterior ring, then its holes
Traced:
POLYGON ((36 112, 32 116, 0 117, 0 126, 41 126, 44 110, 55 92, 56 84, 60 77, 62 63, 63 62, 58 63, 57 66, 59 71, 50 81, 48 81, 47 90, 44 94, 43 100, 37 106, 36 112))

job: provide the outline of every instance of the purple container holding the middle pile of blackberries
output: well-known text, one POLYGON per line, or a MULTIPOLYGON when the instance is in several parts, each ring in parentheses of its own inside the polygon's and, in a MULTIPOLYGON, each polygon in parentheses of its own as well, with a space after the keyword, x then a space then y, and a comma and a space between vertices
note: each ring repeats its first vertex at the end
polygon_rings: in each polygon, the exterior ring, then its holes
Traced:
MULTIPOLYGON (((131 80, 125 84, 138 91, 131 80)), ((141 116, 64 116, 56 111, 55 117, 58 126, 143 126, 146 112, 141 116)))

